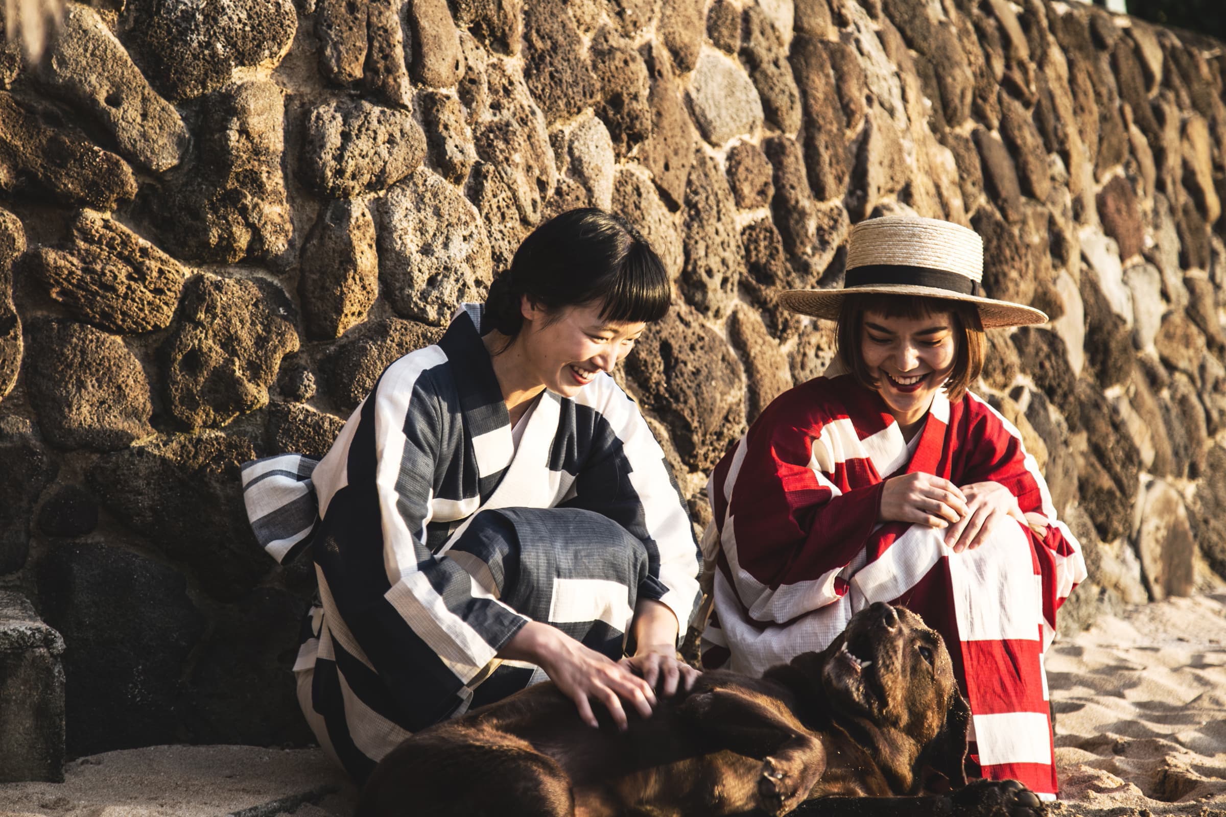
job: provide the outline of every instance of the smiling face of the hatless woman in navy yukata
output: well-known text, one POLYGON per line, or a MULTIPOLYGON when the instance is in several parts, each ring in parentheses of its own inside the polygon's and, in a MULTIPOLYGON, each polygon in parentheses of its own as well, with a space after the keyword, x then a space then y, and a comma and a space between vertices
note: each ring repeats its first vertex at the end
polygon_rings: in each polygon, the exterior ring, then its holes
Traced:
POLYGON ((641 321, 608 321, 602 304, 548 312, 524 299, 524 328, 516 338, 524 375, 563 397, 575 397, 600 372, 612 374, 642 334, 641 321))

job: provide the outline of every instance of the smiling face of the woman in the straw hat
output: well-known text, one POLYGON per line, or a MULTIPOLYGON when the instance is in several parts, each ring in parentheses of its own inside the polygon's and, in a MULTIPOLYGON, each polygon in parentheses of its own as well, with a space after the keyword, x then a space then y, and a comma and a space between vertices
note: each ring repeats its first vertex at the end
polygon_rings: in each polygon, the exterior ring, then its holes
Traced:
POLYGON ((958 336, 958 322, 951 312, 920 317, 864 315, 861 358, 904 431, 923 419, 932 398, 954 371, 958 336))

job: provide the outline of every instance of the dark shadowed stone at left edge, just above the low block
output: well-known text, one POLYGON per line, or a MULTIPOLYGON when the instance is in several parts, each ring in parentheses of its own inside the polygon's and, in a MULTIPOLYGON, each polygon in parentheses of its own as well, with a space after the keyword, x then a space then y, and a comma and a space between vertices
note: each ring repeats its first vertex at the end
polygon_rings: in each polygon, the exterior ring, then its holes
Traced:
POLYGON ((0 418, 0 576, 15 573, 29 554, 29 517, 59 464, 31 432, 29 423, 0 418))

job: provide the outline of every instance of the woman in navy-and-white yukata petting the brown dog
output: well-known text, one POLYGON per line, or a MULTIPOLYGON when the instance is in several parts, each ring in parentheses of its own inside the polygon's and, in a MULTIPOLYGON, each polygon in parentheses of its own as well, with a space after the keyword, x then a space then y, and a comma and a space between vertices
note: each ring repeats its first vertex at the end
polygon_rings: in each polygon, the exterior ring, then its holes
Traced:
POLYGON ((299 702, 356 780, 411 732, 546 677, 592 726, 693 682, 676 648, 698 546, 611 377, 669 299, 625 222, 570 211, 383 372, 322 461, 244 467, 257 538, 314 560, 299 702))

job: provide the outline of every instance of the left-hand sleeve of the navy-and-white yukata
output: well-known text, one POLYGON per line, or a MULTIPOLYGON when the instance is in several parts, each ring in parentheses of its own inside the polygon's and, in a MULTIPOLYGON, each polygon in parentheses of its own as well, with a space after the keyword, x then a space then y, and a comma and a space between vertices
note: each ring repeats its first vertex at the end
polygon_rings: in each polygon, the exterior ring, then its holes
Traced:
POLYGON ((429 347, 392 364, 313 474, 320 592, 341 619, 330 627, 424 720, 440 715, 422 710, 427 701, 452 706, 440 692, 470 682, 527 621, 427 546, 433 507, 463 501, 433 490, 438 464, 465 445, 434 386, 445 363, 429 347))

